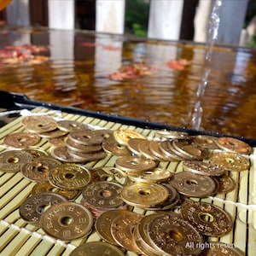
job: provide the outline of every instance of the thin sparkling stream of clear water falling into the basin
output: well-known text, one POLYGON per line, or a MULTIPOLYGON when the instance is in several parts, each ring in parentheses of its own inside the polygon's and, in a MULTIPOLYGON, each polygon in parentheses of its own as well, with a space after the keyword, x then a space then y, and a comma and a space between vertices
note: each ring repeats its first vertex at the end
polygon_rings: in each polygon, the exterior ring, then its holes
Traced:
POLYGON ((205 95, 205 90, 208 84, 208 77, 211 73, 211 60, 214 44, 218 38, 218 26, 219 26, 219 9, 221 8, 222 0, 216 0, 209 20, 209 28, 207 34, 207 52, 205 56, 205 73, 201 79, 201 83, 198 84, 196 91, 197 101, 195 103, 194 111, 192 112, 191 127, 195 130, 201 128, 201 118, 203 114, 203 108, 201 107, 201 99, 205 95))

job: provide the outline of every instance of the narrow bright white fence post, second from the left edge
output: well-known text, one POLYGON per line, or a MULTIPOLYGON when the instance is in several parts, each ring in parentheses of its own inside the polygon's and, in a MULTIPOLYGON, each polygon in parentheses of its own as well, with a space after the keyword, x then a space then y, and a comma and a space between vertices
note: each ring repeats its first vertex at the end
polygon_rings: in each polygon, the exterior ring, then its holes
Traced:
POLYGON ((74 29, 74 0, 48 0, 48 15, 49 28, 74 29))

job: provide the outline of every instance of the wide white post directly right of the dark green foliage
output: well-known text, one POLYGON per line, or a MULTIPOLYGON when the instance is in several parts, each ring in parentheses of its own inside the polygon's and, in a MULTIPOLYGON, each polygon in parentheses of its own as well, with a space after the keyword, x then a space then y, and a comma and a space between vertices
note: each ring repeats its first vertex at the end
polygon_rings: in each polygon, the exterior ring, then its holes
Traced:
POLYGON ((178 40, 183 14, 183 0, 151 0, 148 38, 178 40))

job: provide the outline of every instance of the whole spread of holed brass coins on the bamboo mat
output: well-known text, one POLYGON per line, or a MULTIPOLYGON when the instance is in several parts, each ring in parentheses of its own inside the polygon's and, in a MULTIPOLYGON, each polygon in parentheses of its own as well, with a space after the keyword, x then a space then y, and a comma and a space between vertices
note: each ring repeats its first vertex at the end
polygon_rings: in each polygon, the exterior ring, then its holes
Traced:
MULTIPOLYGON (((49 236, 72 241, 96 230, 105 241, 98 248, 109 244, 117 255, 198 255, 203 252, 196 245, 207 236, 233 229, 228 212, 189 197, 235 188, 229 172, 248 170, 252 153, 241 140, 179 131, 155 131, 150 140, 136 131, 92 130, 48 116, 26 117, 22 125, 25 131, 3 140, 11 149, 0 154, 1 171, 20 172, 35 183, 20 203, 20 217, 49 236), (50 154, 35 147, 41 138, 52 145, 50 154), (114 166, 85 166, 107 155, 115 156, 114 166), (182 171, 160 168, 160 161, 181 162, 182 171), (138 214, 134 207, 154 213, 138 214)), ((73 253, 88 247, 96 244, 73 253)))

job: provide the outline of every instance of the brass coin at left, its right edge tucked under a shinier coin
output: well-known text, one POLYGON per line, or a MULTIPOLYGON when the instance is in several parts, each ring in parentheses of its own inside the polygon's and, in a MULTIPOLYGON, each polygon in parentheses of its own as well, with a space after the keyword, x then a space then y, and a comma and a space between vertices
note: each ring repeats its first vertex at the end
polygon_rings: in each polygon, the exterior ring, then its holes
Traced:
POLYGON ((61 165, 61 161, 52 157, 41 156, 26 162, 21 166, 20 172, 28 180, 44 183, 48 182, 49 172, 59 165, 61 165))

